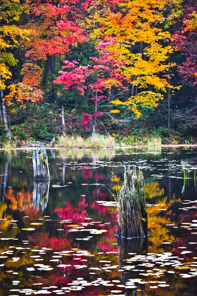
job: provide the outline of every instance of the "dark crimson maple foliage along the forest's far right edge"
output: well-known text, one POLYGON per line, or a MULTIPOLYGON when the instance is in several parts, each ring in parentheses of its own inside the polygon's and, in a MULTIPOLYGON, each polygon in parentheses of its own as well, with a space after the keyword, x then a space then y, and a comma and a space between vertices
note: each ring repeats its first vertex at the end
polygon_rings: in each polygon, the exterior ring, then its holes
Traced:
MULTIPOLYGON (((189 120, 189 126, 196 129, 196 92, 197 92, 197 3, 183 1, 183 13, 175 26, 172 42, 180 63, 177 68, 179 83, 184 87, 182 104, 178 104, 174 118, 181 121, 189 120), (180 106, 179 106, 180 105, 180 106), (193 121, 192 121, 193 120, 193 121)), ((178 100, 177 100, 178 101, 178 100)), ((179 103, 180 101, 178 101, 179 103)))

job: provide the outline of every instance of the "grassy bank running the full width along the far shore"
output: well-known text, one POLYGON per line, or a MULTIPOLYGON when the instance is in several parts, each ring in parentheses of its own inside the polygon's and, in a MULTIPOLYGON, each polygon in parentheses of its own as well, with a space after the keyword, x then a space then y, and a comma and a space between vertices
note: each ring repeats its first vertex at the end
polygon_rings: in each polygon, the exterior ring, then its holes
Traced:
POLYGON ((74 136, 57 136, 55 141, 4 141, 1 143, 0 148, 34 148, 34 147, 47 147, 47 148, 79 148, 79 149, 99 149, 99 148, 129 148, 129 147, 162 147, 162 146, 181 146, 181 145, 195 145, 196 139, 191 141, 169 137, 168 139, 162 137, 137 137, 128 136, 120 137, 115 134, 112 136, 103 136, 94 134, 91 137, 74 136))

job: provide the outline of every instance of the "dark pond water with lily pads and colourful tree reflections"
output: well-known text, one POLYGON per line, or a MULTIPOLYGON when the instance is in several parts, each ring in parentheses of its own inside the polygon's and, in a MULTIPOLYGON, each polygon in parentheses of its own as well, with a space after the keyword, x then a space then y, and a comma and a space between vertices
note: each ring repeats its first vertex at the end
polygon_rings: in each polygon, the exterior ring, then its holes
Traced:
POLYGON ((47 154, 50 184, 35 184, 32 151, 0 152, 0 296, 197 295, 196 148, 47 154), (129 164, 149 237, 120 243, 112 194, 129 164))

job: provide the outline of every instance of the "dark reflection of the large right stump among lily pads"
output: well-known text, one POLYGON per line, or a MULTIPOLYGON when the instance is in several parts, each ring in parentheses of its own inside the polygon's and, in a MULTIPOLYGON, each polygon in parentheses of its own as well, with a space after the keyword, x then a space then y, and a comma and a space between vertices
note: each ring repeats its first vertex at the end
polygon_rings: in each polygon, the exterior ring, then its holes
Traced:
MULTIPOLYGON (((125 260, 131 257, 131 255, 129 255, 129 253, 135 253, 137 255, 146 255, 148 252, 148 237, 147 236, 133 238, 133 239, 118 238, 117 242, 119 244, 119 251, 120 251, 120 256, 119 256, 120 267, 124 266, 125 260)), ((135 263, 132 262, 132 264, 135 264, 135 263)), ((138 262, 136 264, 138 264, 138 262)), ((121 272, 121 280, 122 280, 123 284, 125 284, 129 279, 135 279, 137 274, 138 273, 136 273, 136 271, 129 271, 129 270, 121 272)), ((142 295, 144 295, 145 286, 141 285, 140 289, 141 289, 141 296, 142 296, 142 295)), ((125 295, 127 295, 127 296, 137 295, 137 288, 126 289, 125 295)))

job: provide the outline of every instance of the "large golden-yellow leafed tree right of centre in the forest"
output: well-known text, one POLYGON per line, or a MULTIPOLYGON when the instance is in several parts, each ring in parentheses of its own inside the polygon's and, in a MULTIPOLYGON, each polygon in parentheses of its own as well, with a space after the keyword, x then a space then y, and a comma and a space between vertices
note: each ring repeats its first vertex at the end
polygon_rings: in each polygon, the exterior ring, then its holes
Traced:
POLYGON ((116 38, 114 51, 123 62, 121 74, 129 83, 125 104, 137 117, 137 105, 156 107, 166 89, 173 88, 168 81, 168 71, 175 63, 168 62, 173 47, 168 44, 170 33, 164 30, 166 5, 166 0, 116 1, 119 11, 108 11, 105 19, 100 18, 99 34, 116 38))

